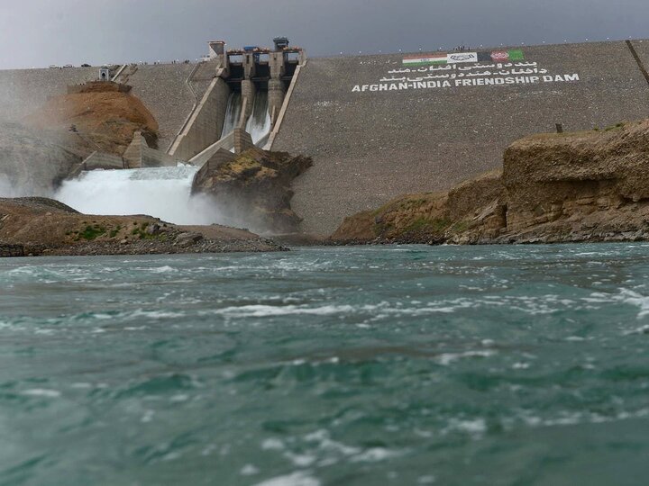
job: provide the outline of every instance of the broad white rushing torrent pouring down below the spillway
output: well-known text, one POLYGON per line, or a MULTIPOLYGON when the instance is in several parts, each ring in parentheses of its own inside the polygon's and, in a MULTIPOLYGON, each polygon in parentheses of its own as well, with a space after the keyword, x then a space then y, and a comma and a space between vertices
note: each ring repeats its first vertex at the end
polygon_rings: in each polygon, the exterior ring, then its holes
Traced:
POLYGON ((94 170, 65 181, 56 199, 85 214, 148 214, 175 224, 212 224, 215 207, 192 196, 197 167, 94 170))

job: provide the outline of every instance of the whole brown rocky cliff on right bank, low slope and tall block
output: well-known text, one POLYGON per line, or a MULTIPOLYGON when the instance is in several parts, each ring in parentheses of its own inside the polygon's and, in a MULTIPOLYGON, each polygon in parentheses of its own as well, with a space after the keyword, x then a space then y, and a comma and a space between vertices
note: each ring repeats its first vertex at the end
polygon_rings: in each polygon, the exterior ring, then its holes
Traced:
POLYGON ((649 239, 649 121, 520 139, 502 172, 400 197, 335 241, 526 243, 649 239))

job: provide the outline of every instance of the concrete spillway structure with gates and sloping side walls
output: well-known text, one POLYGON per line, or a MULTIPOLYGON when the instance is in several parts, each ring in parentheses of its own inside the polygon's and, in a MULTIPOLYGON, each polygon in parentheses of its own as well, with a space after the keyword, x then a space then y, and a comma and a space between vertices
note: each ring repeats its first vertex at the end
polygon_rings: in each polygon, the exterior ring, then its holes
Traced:
POLYGON ((288 46, 288 39, 274 43, 274 49, 227 50, 224 41, 208 43, 205 62, 215 73, 171 144, 170 157, 203 166, 219 150, 241 151, 242 144, 250 143, 246 134, 256 147, 270 145, 306 60, 302 49, 288 46))

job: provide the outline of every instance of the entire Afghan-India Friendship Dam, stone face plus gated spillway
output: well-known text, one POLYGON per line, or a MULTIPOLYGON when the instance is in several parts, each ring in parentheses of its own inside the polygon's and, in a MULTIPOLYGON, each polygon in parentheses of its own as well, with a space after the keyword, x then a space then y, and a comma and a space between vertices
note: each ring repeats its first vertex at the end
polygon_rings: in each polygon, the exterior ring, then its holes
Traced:
MULTIPOLYGON (((557 125, 607 130, 649 112, 649 40, 329 58, 285 38, 208 48, 197 63, 126 64, 110 77, 155 116, 169 159, 203 166, 235 149, 236 129, 258 147, 312 157, 292 207, 315 235, 398 195, 497 169, 515 139, 557 125)), ((95 79, 90 67, 0 71, 0 109, 20 119, 95 79)))

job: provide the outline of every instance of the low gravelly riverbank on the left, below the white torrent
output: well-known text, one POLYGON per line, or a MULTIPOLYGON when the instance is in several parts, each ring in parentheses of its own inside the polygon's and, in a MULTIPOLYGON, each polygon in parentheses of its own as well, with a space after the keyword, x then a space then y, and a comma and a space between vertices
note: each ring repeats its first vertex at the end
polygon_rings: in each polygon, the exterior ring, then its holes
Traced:
POLYGON ((0 257, 282 251, 224 226, 177 226, 150 216, 89 216, 45 198, 0 199, 0 257))

